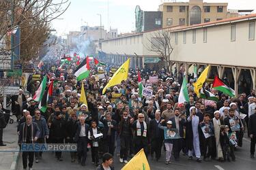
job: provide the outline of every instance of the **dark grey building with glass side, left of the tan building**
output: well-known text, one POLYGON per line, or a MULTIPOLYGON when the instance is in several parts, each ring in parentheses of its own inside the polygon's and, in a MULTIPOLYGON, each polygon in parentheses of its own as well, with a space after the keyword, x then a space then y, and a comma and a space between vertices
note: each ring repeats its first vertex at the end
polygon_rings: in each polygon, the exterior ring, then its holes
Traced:
POLYGON ((136 32, 152 31, 162 28, 162 12, 143 11, 139 5, 135 8, 136 32))

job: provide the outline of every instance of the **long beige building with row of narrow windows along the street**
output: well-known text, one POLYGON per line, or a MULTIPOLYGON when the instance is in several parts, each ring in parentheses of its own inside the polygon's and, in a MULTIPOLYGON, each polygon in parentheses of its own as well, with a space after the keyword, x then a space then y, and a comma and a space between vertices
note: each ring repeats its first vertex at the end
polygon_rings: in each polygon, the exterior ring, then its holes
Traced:
MULTIPOLYGON (((172 27, 102 41, 102 60, 121 65, 131 57, 131 67, 165 67, 152 51, 151 39, 159 31, 171 32, 172 70, 211 65, 208 78, 227 78, 236 94, 256 88, 256 14, 228 18, 188 27, 172 27), (150 64, 151 63, 151 64, 150 64)), ((159 37, 158 37, 159 38, 159 37)))

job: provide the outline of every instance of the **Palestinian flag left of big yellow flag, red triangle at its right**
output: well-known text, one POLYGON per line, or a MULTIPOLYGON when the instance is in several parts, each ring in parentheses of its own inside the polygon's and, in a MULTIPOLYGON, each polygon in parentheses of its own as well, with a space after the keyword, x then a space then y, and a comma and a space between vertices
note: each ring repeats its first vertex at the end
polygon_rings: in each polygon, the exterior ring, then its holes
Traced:
POLYGON ((89 60, 88 57, 86 57, 83 62, 79 65, 79 67, 74 70, 74 75, 76 76, 76 80, 80 81, 89 76, 90 70, 89 70, 89 60))

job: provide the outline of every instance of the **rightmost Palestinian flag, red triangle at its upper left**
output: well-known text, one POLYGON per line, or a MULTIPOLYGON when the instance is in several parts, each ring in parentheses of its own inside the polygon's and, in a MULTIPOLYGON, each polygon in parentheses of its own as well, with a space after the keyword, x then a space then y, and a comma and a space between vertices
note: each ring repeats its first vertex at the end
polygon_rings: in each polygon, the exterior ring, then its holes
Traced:
POLYGON ((229 95, 231 97, 235 97, 236 94, 235 90, 224 84, 223 81, 218 78, 218 76, 215 76, 212 88, 224 92, 226 95, 229 95))

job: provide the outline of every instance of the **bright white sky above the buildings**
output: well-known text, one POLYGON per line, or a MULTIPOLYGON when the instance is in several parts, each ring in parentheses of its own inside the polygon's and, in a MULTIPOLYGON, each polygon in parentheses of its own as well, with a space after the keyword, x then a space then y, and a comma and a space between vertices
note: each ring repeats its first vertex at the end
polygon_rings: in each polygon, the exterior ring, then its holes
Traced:
MULTIPOLYGON (((100 15, 102 16, 102 26, 104 26, 104 29, 109 30, 111 27, 118 29, 118 33, 128 33, 135 29, 134 11, 136 5, 139 5, 141 10, 144 11, 156 11, 158 10, 158 5, 162 2, 161 0, 69 1, 71 3, 68 10, 59 16, 59 19, 53 20, 51 23, 51 27, 56 29, 59 36, 67 35, 69 31, 80 31, 80 27, 87 24, 90 27, 100 26, 100 15)), ((249 9, 255 10, 256 13, 256 0, 204 0, 204 2, 229 3, 228 9, 249 9)))

